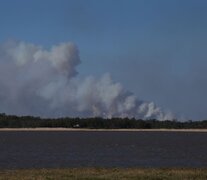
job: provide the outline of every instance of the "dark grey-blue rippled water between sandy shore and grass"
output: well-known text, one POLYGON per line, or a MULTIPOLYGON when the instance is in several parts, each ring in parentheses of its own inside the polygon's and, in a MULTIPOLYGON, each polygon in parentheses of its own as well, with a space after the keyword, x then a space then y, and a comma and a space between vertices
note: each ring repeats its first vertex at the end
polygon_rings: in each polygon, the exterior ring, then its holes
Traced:
POLYGON ((207 133, 0 132, 0 169, 207 167, 207 133))

